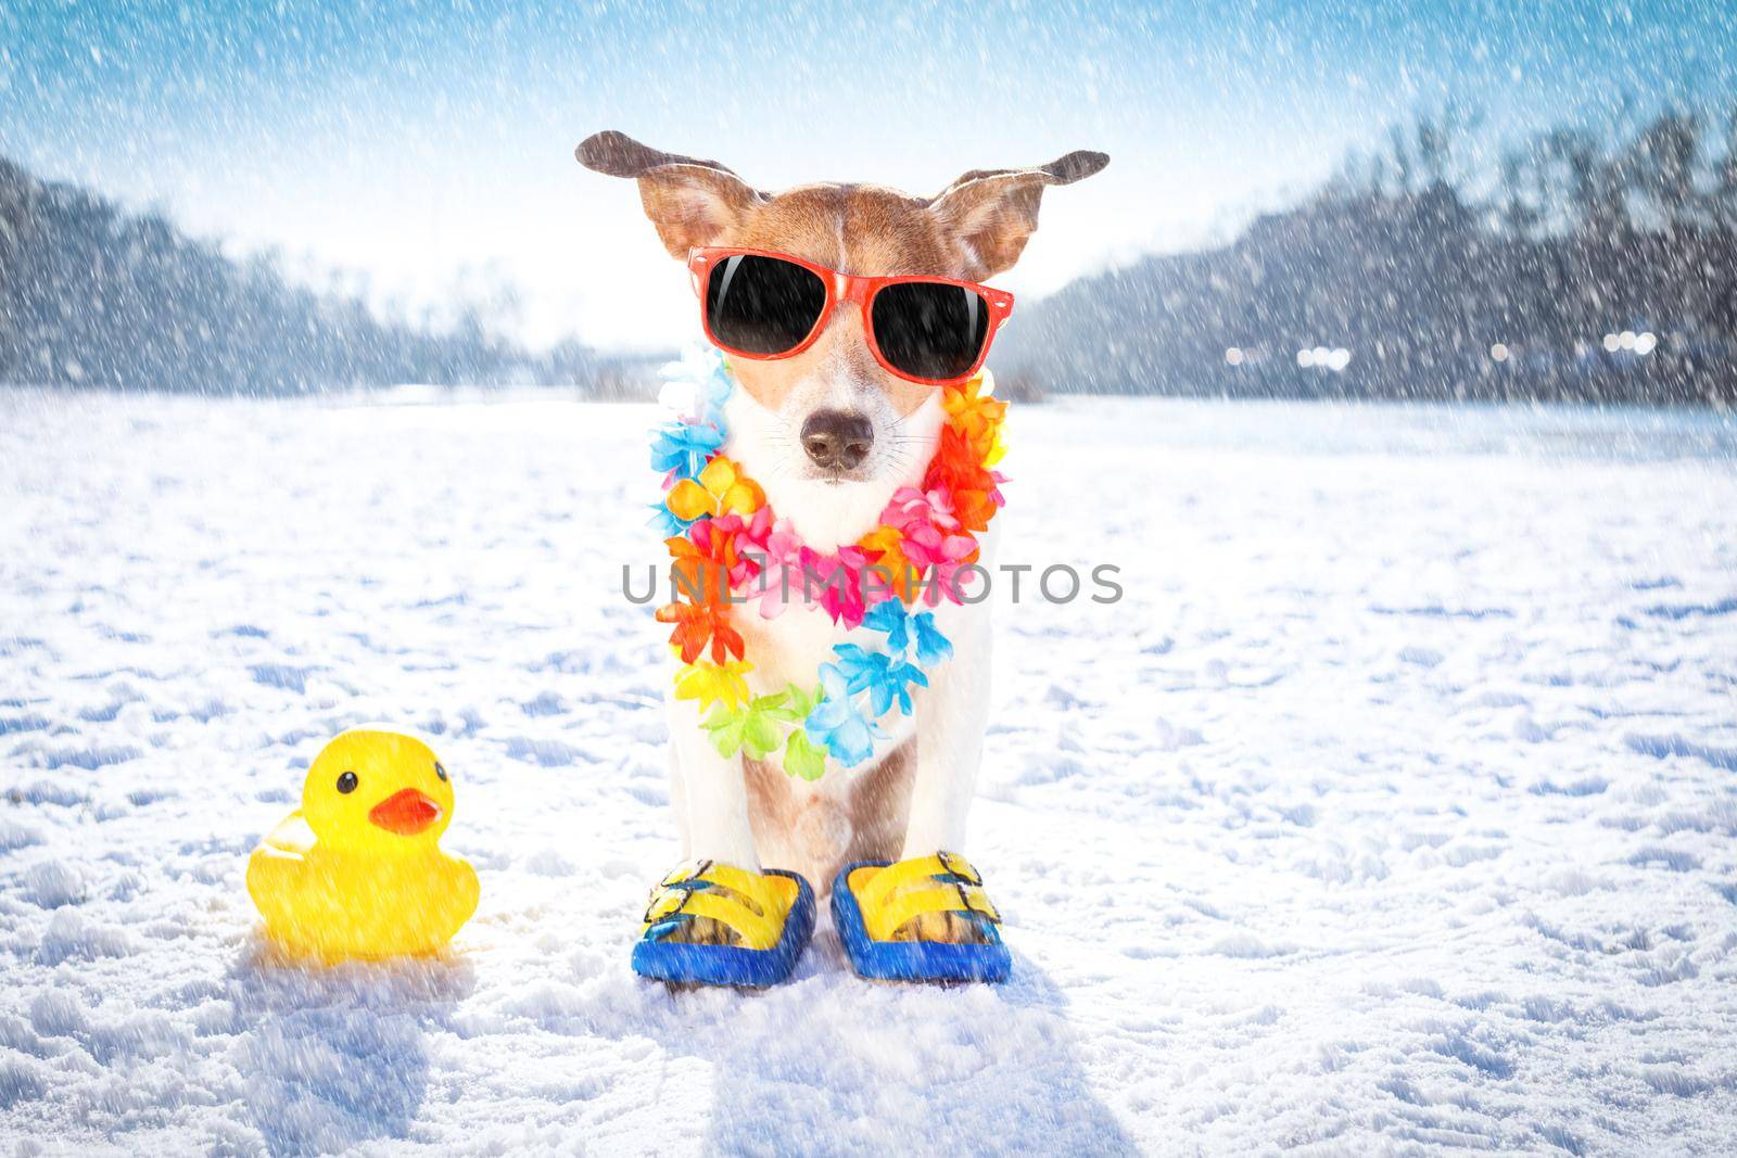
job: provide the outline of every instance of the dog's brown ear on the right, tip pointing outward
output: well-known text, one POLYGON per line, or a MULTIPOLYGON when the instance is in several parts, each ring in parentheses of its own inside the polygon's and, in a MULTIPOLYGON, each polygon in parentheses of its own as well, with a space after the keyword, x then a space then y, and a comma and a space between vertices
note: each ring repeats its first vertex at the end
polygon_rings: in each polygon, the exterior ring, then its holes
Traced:
POLYGON ((1079 149, 1035 168, 973 168, 929 201, 941 226, 966 243, 969 276, 992 278, 1020 260, 1037 229, 1044 186, 1067 186, 1110 163, 1103 153, 1079 149))

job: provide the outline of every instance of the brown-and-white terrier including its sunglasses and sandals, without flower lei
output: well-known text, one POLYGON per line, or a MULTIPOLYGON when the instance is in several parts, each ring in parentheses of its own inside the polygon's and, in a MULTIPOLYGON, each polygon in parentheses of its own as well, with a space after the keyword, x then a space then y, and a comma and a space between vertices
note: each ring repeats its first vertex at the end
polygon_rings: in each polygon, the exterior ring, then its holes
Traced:
MULTIPOLYGON (((577 156, 637 181, 664 247, 690 266, 705 337, 733 382, 717 453, 820 554, 863 540, 905 488, 921 493, 948 420, 943 387, 974 377, 1013 306, 978 283, 1020 257, 1047 186, 1108 163, 1077 151, 971 170, 919 198, 870 184, 761 193, 717 161, 618 132, 589 137, 577 156)), ((978 566, 992 566, 995 540, 997 528, 978 536, 978 566)), ((752 611, 728 622, 752 658, 756 696, 811 688, 816 668, 865 634, 816 609, 752 611)), ((653 891, 636 969, 665 981, 782 979, 813 925, 813 880, 830 885, 865 976, 1006 976, 999 917, 961 856, 988 715, 988 620, 987 602, 943 601, 933 627, 952 658, 929 672, 912 714, 879 717, 868 759, 829 760, 816 780, 752 745, 723 755, 700 705, 672 696, 670 800, 688 863, 653 891), (995 950, 988 964, 983 950, 995 950)))

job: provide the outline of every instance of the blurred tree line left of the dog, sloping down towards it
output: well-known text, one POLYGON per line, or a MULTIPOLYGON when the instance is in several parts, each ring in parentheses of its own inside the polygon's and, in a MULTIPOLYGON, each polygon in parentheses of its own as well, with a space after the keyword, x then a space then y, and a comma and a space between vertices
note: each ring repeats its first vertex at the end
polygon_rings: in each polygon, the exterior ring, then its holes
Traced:
POLYGON ((512 309, 495 288, 439 323, 384 319, 342 278, 314 292, 271 255, 238 262, 158 214, 0 158, 0 382, 290 394, 591 384, 610 368, 577 342, 526 352, 500 333, 512 309))

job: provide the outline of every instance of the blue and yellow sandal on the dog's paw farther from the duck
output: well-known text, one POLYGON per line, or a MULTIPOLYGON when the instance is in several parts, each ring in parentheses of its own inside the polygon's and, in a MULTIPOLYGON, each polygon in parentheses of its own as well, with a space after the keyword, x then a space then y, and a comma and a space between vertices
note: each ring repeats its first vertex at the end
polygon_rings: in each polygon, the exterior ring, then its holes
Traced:
POLYGON ((832 924, 858 976, 877 981, 1006 981, 1013 955, 983 877, 954 852, 908 861, 856 861, 832 882, 832 924), (926 913, 959 913, 980 941, 898 941, 926 913))

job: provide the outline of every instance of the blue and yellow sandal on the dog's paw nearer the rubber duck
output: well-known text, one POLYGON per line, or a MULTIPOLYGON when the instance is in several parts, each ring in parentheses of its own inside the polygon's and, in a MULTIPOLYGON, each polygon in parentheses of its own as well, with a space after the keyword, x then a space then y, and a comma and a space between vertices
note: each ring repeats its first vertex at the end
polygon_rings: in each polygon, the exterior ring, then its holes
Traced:
POLYGON ((813 932, 815 891, 797 873, 690 861, 651 891, 634 943, 634 972, 655 981, 764 988, 790 976, 813 932), (736 943, 670 939, 700 918, 724 925, 736 943))

